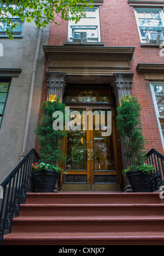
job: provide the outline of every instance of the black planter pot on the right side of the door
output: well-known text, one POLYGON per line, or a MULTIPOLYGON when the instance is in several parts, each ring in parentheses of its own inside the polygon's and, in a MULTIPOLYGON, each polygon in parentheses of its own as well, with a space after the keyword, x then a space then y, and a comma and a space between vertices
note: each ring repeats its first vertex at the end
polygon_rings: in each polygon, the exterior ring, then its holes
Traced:
POLYGON ((152 173, 143 173, 142 171, 131 171, 126 173, 134 193, 151 191, 152 173))

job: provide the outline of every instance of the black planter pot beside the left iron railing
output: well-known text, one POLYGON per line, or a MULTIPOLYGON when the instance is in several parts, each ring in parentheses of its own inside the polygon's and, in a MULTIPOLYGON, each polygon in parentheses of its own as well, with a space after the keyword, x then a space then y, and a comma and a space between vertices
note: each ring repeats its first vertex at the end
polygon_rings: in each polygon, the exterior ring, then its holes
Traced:
POLYGON ((34 183, 38 193, 54 193, 59 173, 52 170, 34 172, 34 183))

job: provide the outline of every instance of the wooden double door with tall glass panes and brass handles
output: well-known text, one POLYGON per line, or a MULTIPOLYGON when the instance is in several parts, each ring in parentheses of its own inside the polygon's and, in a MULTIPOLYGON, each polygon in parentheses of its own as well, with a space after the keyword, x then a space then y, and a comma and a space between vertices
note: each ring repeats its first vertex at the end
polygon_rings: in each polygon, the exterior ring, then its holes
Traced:
POLYGON ((113 107, 73 106, 63 150, 62 191, 120 191, 120 148, 113 107))

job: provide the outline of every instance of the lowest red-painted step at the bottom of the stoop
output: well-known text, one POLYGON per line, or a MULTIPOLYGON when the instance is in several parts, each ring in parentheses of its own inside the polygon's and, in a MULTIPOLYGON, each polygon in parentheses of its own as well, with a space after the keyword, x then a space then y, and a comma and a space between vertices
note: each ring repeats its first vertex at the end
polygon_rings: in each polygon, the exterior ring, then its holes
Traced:
POLYGON ((14 233, 4 245, 163 245, 163 232, 14 233))

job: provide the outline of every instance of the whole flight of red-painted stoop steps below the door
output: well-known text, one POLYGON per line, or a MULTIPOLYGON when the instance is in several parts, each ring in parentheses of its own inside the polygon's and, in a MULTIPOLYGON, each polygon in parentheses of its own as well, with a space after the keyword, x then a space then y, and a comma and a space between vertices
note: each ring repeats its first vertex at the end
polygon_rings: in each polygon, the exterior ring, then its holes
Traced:
POLYGON ((28 193, 3 245, 164 245, 159 193, 28 193))

